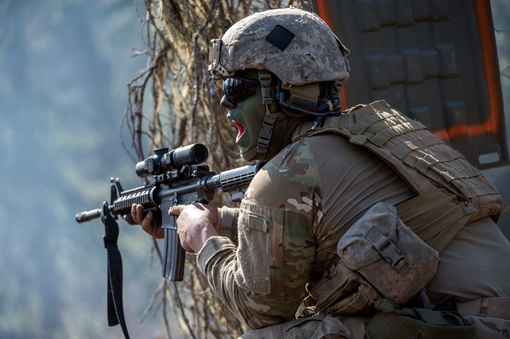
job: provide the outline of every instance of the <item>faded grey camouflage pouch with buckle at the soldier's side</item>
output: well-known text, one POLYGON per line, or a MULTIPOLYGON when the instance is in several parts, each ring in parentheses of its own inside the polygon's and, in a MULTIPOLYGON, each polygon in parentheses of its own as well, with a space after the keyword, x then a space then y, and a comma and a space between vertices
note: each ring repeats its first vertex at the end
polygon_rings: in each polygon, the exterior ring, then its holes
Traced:
POLYGON ((436 273, 439 255, 397 216, 396 208, 373 205, 338 242, 345 265, 361 273, 382 295, 405 304, 436 273))

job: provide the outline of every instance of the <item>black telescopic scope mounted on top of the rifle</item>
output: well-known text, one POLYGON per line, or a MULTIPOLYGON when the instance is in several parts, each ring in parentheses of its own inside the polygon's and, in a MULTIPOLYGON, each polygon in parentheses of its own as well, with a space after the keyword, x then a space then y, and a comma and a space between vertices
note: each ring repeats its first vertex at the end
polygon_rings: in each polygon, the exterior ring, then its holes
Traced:
POLYGON ((202 164, 208 157, 209 151, 202 144, 178 147, 171 151, 168 148, 156 148, 153 155, 136 164, 135 171, 139 177, 160 175, 185 165, 202 164))

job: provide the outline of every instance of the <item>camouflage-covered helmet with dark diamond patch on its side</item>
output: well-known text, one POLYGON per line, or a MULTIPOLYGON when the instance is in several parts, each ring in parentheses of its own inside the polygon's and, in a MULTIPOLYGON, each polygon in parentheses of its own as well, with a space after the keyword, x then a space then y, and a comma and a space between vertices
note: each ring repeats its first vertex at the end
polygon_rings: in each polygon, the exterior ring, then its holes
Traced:
POLYGON ((252 14, 212 43, 215 80, 244 69, 268 70, 287 86, 349 77, 348 49, 316 14, 295 8, 252 14))

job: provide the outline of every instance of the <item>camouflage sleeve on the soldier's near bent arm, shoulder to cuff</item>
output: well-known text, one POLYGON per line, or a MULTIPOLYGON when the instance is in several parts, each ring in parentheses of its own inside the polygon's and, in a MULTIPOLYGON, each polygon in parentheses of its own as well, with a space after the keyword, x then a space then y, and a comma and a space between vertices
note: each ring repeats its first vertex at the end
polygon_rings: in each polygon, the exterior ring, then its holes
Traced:
POLYGON ((321 216, 317 170, 301 141, 256 175, 241 203, 238 245, 209 239, 197 256, 219 298, 251 329, 290 320, 315 259, 321 216))

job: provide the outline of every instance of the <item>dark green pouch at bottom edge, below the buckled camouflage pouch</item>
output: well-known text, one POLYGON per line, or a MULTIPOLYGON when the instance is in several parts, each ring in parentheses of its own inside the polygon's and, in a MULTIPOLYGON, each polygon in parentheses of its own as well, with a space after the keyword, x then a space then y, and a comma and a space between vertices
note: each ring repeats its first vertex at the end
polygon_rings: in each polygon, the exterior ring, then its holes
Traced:
POLYGON ((368 323, 367 339, 475 339, 476 327, 454 311, 400 307, 385 298, 368 323))

